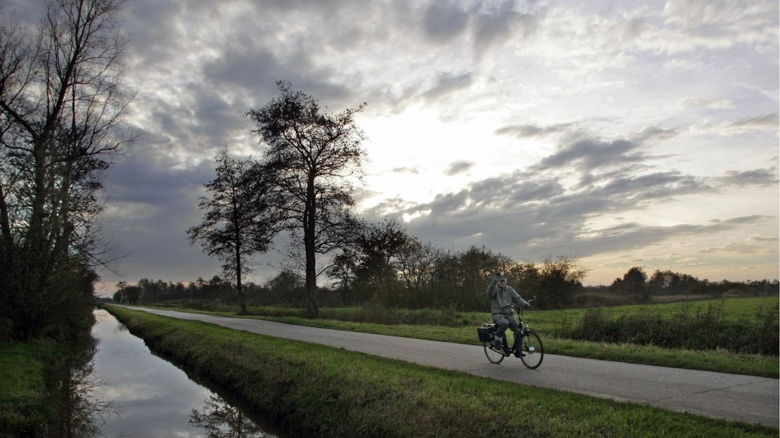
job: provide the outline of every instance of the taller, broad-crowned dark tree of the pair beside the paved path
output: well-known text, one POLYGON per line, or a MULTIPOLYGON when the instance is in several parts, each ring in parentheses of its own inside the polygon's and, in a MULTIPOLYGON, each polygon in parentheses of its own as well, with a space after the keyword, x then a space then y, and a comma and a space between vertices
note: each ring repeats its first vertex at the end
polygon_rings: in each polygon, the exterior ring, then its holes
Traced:
POLYGON ((362 175, 364 135, 355 114, 365 104, 326 113, 314 97, 293 91, 289 83, 277 86, 280 97, 246 115, 268 145, 260 167, 275 186, 282 228, 303 245, 307 314, 317 317, 317 254, 343 248, 358 224, 350 213, 355 201, 348 178, 362 175))

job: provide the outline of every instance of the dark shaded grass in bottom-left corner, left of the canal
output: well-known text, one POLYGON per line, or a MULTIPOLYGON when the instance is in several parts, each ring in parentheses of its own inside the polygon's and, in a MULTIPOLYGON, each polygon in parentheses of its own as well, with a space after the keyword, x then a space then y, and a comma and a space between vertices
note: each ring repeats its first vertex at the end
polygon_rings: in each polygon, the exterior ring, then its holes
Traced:
POLYGON ((46 376, 59 350, 54 344, 0 343, 0 431, 34 436, 55 412, 47 403, 46 376))

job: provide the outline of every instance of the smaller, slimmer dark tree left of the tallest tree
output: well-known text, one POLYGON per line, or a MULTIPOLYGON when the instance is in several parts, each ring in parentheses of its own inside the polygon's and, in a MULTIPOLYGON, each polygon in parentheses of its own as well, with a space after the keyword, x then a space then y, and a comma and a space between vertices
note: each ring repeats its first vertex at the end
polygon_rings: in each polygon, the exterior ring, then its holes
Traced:
POLYGON ((204 252, 222 260, 226 278, 236 281, 241 312, 246 314, 242 277, 250 272, 250 257, 271 245, 275 210, 268 207, 265 178, 250 173, 250 159, 235 160, 227 151, 216 158, 217 177, 206 184, 211 197, 200 198, 206 210, 203 222, 187 230, 191 242, 200 242, 204 252))

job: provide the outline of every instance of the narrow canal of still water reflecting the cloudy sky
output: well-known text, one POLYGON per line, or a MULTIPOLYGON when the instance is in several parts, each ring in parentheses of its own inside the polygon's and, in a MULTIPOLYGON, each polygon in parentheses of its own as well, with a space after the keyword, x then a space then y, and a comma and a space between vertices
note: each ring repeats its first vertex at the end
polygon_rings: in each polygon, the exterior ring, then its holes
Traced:
POLYGON ((111 313, 94 312, 89 383, 97 436, 279 436, 149 351, 111 313))

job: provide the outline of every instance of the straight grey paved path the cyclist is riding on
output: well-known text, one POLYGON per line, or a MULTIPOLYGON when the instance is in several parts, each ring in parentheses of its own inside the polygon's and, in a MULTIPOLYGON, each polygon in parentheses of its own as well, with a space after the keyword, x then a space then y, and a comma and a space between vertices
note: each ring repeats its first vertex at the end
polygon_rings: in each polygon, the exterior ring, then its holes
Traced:
MULTIPOLYGON (((708 417, 778 427, 778 380, 662 366, 544 355, 538 369, 514 357, 494 365, 482 347, 295 326, 264 320, 145 309, 158 315, 201 320, 236 330, 324 344, 425 366, 453 369, 535 387, 629 401, 708 417)), ((474 336, 476 336, 474 330, 474 336)), ((544 341, 544 340, 543 340, 544 341)))

